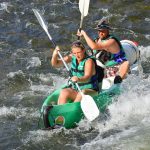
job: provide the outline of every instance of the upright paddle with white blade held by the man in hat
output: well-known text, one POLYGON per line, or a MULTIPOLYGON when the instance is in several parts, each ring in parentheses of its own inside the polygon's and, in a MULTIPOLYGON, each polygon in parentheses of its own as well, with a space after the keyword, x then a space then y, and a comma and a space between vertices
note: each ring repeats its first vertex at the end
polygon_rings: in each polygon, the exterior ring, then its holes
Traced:
MULTIPOLYGON (((88 10, 89 10, 89 4, 90 0, 79 0, 79 10, 81 12, 81 21, 80 21, 80 28, 79 31, 82 29, 82 24, 83 24, 83 18, 87 16, 88 10)), ((78 40, 80 37, 78 36, 78 40)))

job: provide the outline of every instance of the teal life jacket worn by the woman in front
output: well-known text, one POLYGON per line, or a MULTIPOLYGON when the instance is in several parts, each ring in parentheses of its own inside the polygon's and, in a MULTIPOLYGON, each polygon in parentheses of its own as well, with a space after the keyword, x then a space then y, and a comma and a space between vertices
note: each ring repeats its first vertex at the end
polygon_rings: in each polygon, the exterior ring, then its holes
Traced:
MULTIPOLYGON (((92 59, 93 61, 95 60, 94 58, 90 57, 90 56, 87 56, 85 59, 83 59, 79 64, 77 64, 77 59, 73 56, 72 57, 72 63, 71 63, 71 74, 72 76, 77 76, 77 77, 82 77, 84 76, 84 67, 85 67, 85 62, 88 60, 88 59, 92 59)), ((93 75, 89 81, 87 82, 78 82, 78 85, 80 86, 80 89, 93 89, 93 90, 96 90, 96 91, 99 91, 99 83, 98 83, 98 72, 97 72, 97 65, 96 65, 96 61, 94 61, 95 63, 95 69, 96 69, 96 74, 93 75)), ((102 79, 101 79, 102 81, 102 79)), ((72 87, 74 89, 76 89, 76 86, 72 85, 72 87)))

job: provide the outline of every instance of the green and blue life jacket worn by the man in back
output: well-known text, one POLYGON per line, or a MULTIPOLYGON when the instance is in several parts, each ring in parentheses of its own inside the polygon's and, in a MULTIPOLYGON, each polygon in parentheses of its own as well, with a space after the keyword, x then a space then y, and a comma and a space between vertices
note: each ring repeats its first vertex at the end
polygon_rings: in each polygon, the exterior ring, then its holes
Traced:
POLYGON ((100 62, 102 62, 106 67, 111 67, 111 66, 120 64, 123 61, 126 61, 127 58, 126 58, 125 52, 118 38, 113 35, 109 35, 107 38, 103 39, 102 41, 106 41, 108 39, 115 39, 115 41, 118 43, 120 47, 120 51, 117 54, 111 54, 110 52, 107 52, 106 50, 100 50, 100 51, 94 50, 95 57, 100 62))

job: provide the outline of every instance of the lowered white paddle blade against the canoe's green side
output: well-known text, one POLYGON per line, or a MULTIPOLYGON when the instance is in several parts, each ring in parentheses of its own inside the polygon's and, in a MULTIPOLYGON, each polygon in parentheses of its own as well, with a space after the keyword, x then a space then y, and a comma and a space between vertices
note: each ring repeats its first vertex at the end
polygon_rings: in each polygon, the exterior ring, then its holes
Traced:
POLYGON ((100 111, 99 111, 94 99, 89 95, 82 96, 81 109, 82 109, 85 117, 89 121, 93 121, 100 114, 100 111))

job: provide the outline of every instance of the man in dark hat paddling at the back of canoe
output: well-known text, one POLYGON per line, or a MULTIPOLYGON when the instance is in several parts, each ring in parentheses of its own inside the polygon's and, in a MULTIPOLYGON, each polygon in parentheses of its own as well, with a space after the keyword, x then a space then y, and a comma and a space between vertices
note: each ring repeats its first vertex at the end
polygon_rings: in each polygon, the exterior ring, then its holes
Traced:
POLYGON ((77 35, 83 36, 88 46, 94 50, 96 58, 106 68, 105 77, 115 75, 114 83, 121 83, 129 71, 129 61, 123 47, 118 38, 110 34, 111 27, 106 20, 101 20, 95 29, 98 31, 96 40, 92 40, 84 30, 78 31, 77 35))

